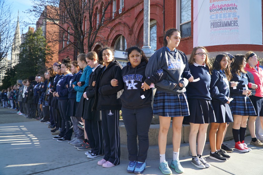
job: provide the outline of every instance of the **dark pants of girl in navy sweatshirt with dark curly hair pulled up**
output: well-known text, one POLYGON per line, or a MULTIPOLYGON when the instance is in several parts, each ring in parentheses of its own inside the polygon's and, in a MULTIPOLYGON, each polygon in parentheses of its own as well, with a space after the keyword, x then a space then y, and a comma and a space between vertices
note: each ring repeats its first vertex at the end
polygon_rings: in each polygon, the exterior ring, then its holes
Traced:
POLYGON ((59 112, 61 115, 61 131, 59 136, 66 140, 71 140, 73 124, 70 116, 67 115, 68 99, 58 100, 59 112))

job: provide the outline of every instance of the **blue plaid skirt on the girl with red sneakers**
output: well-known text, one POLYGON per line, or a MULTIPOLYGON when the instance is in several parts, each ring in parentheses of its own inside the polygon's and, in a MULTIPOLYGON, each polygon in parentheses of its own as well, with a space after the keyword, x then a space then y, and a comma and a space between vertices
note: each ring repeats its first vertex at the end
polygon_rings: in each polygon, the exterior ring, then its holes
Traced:
POLYGON ((231 95, 234 98, 230 103, 233 115, 254 116, 256 115, 255 108, 249 97, 245 95, 231 95))

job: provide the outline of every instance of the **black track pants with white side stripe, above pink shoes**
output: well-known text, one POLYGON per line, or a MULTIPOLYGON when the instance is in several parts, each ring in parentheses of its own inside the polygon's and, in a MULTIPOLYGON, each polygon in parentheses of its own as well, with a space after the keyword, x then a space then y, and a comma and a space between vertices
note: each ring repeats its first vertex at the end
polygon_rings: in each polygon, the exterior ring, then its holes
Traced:
POLYGON ((119 110, 102 110, 102 134, 104 139, 104 159, 120 164, 120 130, 119 130, 119 110))

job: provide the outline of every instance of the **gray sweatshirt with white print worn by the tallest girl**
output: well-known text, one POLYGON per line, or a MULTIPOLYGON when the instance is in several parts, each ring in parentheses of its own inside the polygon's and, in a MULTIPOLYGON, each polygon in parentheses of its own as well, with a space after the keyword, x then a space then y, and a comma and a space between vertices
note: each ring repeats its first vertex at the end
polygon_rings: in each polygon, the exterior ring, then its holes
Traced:
POLYGON ((150 57, 146 66, 145 76, 150 77, 160 68, 166 72, 167 77, 154 84, 158 91, 173 94, 186 91, 185 87, 192 75, 184 52, 177 49, 176 52, 171 52, 167 47, 160 48, 150 57), (179 86, 179 82, 183 84, 183 87, 179 86))

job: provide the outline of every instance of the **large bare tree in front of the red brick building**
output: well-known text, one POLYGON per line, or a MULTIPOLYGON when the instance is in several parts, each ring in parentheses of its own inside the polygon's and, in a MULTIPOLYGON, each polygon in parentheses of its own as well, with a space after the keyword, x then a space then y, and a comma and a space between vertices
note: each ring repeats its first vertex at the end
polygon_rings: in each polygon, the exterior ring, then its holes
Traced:
MULTIPOLYGON (((103 24, 107 23, 105 12, 112 1, 32 0, 32 3, 32 9, 28 9, 27 13, 33 14, 36 18, 44 15, 47 23, 58 26, 59 30, 53 31, 53 35, 59 37, 53 37, 52 42, 64 42, 63 51, 74 49, 77 53, 84 53, 85 48, 91 51, 94 43, 98 42, 97 35, 102 30, 103 24), (49 10, 43 14, 43 9, 47 7, 49 10)), ((49 34, 52 35, 51 32, 49 34)), ((47 42, 51 41, 47 39, 47 42)))

